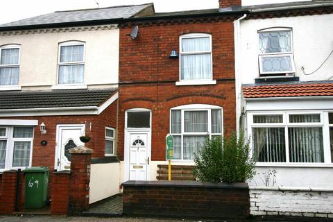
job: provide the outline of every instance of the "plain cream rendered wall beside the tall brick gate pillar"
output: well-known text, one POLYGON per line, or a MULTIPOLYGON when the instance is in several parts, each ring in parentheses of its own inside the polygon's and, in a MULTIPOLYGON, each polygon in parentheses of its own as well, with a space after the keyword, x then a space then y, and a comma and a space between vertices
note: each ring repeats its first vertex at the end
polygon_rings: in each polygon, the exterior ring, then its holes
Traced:
POLYGON ((90 172, 89 204, 119 194, 120 163, 92 160, 90 172))

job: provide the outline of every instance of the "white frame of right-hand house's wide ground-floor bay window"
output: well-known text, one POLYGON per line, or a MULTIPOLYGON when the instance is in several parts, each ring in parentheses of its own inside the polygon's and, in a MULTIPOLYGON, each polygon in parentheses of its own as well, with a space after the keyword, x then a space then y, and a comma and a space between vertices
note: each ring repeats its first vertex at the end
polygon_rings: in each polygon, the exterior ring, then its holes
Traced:
MULTIPOLYGON (((333 111, 329 111, 333 112, 333 111)), ((274 112, 248 112, 247 113, 247 132, 248 138, 252 138, 253 128, 284 128, 284 139, 286 144, 286 162, 257 162, 257 167, 333 167, 330 155, 330 134, 328 124, 328 113, 327 111, 298 111, 298 110, 287 110, 287 111, 274 111, 274 112), (253 123, 254 115, 283 115, 282 123, 253 123), (318 123, 289 123, 290 114, 320 114, 321 121, 318 123), (323 129, 323 155, 324 162, 290 162, 289 160, 289 138, 288 128, 296 127, 321 127, 323 129)), ((332 124, 333 126, 333 124, 332 124)), ((253 155, 253 141, 251 139, 250 147, 253 155)))

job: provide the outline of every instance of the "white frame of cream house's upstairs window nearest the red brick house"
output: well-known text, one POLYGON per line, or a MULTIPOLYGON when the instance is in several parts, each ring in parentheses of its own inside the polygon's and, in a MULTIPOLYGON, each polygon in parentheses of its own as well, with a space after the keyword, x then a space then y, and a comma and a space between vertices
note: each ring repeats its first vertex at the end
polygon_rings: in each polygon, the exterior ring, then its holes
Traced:
POLYGON ((57 65, 57 82, 53 85, 51 89, 87 89, 85 85, 85 42, 83 41, 67 41, 60 42, 58 45, 58 65, 57 65), (83 60, 77 62, 60 62, 61 47, 62 46, 83 46, 83 60), (60 84, 59 83, 59 71, 60 66, 65 65, 83 65, 83 83, 70 83, 70 84, 60 84))

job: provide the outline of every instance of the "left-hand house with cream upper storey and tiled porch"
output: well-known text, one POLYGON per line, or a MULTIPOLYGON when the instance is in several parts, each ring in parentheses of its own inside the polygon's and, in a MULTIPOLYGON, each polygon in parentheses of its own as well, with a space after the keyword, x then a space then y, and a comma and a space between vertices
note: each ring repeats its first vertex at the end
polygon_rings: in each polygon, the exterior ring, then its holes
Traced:
MULTIPOLYGON (((96 162, 117 162, 118 24, 153 10, 150 3, 70 10, 0 25, 0 172, 69 169, 68 150, 83 135, 96 162)), ((101 169, 113 168, 92 172, 101 169)), ((94 190, 110 192, 101 177, 94 173, 94 190)))

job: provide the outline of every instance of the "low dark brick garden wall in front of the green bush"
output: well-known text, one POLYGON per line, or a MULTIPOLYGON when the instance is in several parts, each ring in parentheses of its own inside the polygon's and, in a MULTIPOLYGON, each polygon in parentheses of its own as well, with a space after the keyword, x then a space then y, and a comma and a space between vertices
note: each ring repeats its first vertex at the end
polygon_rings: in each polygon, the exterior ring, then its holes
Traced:
POLYGON ((123 183, 123 214, 246 218, 250 213, 249 198, 245 183, 128 181, 123 183))

